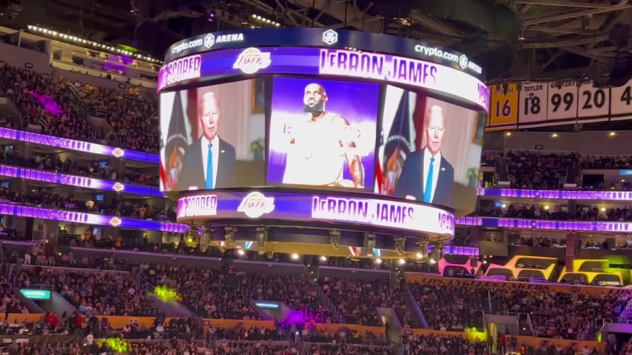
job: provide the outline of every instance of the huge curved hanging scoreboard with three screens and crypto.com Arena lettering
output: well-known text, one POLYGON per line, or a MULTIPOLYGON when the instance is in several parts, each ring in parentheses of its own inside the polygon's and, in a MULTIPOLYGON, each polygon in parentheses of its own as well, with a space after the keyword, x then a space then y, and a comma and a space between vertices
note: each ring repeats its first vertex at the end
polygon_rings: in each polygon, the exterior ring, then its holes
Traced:
POLYGON ((473 211, 489 107, 465 54, 324 28, 205 33, 159 73, 161 191, 207 246, 381 258, 473 211))

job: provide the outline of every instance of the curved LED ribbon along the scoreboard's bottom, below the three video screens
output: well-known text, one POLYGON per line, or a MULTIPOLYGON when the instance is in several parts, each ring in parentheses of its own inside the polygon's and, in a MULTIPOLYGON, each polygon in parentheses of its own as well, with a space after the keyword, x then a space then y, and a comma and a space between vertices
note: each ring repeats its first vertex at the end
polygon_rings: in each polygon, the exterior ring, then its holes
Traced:
POLYGON ((454 214, 441 208, 382 198, 310 193, 188 193, 178 200, 178 222, 195 219, 349 222, 454 236, 454 214))

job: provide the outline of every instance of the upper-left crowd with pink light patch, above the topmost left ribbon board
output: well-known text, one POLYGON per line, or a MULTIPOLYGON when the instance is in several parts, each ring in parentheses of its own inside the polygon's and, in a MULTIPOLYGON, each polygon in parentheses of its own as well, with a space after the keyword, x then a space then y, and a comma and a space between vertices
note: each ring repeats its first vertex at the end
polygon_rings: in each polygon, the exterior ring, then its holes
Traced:
POLYGON ((5 63, 0 67, 0 91, 16 103, 22 116, 41 124, 47 135, 158 151, 157 100, 143 97, 140 90, 131 93, 71 83, 58 73, 45 75, 5 63), (76 88, 78 97, 70 86, 76 88), (92 128, 85 119, 87 114, 106 119, 111 129, 92 128))

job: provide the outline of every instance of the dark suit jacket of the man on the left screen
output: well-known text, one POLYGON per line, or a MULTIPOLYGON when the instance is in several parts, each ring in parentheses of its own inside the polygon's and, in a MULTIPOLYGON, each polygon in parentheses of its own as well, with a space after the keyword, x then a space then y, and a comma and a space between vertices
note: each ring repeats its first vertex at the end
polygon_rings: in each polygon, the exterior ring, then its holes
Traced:
MULTIPOLYGON (((219 138, 219 137, 218 137, 219 138)), ((219 157, 217 157, 217 176, 215 188, 233 187, 234 165, 236 160, 235 148, 222 138, 219 138, 219 157)), ((206 188, 204 179, 204 160, 202 157, 202 140, 191 143, 185 150, 185 161, 182 164, 182 171, 178 176, 178 190, 186 191, 191 186, 197 186, 199 190, 206 188)))

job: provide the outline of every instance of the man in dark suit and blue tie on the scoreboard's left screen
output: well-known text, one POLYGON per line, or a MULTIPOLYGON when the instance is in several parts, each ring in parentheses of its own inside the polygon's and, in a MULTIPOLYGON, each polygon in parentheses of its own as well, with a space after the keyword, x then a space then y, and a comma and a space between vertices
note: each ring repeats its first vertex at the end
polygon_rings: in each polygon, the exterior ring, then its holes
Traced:
POLYGON ((217 135, 220 116, 215 93, 204 93, 198 103, 198 121, 202 126, 202 136, 186 147, 178 177, 178 190, 232 187, 235 148, 217 135))

